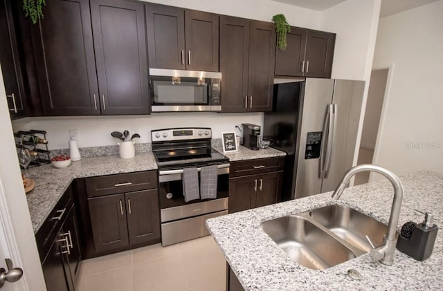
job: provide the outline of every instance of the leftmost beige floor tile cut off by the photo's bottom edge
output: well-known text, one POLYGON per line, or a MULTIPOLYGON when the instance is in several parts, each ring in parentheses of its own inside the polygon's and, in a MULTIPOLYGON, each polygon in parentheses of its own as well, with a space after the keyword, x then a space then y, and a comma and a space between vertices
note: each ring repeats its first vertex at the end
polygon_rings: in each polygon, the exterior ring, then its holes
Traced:
MULTIPOLYGON (((132 291, 132 265, 80 277, 77 291, 132 291)), ((147 290, 147 289, 145 289, 147 290)))

